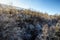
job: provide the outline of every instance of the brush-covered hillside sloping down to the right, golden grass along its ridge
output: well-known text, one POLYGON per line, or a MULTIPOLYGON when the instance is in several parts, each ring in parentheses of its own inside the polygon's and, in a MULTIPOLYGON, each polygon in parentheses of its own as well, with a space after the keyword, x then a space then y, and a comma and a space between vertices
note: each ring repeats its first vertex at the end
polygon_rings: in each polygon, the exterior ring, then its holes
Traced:
POLYGON ((54 40, 57 23, 60 16, 0 4, 0 40, 54 40))

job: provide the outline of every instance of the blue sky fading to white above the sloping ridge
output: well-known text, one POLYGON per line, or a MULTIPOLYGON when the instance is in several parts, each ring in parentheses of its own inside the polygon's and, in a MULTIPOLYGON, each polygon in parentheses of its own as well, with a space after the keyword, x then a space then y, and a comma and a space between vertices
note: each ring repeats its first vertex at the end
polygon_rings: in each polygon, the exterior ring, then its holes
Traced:
POLYGON ((50 15, 60 14, 60 0, 0 0, 0 3, 46 12, 50 15))

